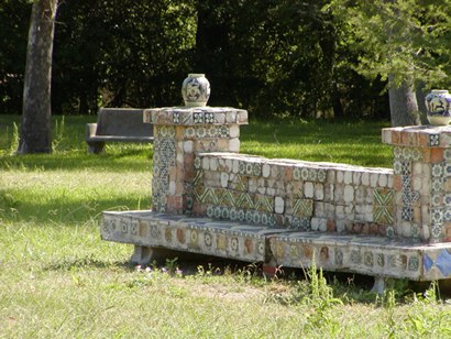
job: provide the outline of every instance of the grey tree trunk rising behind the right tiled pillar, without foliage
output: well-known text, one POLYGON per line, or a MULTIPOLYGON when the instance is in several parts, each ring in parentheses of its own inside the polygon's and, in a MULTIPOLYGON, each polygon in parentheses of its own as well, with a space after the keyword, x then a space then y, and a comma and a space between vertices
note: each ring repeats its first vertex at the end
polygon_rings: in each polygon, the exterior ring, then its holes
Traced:
POLYGON ((396 87, 388 77, 392 127, 421 124, 415 88, 410 81, 396 87))

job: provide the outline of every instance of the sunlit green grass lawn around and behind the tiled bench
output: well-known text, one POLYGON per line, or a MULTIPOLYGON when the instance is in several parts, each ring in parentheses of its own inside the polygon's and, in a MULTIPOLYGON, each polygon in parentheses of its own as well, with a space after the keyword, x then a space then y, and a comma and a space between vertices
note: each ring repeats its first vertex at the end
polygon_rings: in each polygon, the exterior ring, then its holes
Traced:
MULTIPOLYGON (((128 265, 132 247, 100 240, 103 210, 150 208, 152 145, 88 155, 86 122, 56 117, 52 155, 13 155, 19 117, 0 116, 0 338, 451 338, 451 305, 397 282, 184 255, 128 265)), ((391 167, 385 123, 251 122, 242 153, 391 167)))

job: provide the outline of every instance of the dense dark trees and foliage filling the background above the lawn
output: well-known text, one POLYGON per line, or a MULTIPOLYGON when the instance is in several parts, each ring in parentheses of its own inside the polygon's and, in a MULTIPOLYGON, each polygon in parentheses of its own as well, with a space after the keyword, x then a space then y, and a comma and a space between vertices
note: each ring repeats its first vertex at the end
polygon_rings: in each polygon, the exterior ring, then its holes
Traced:
MULTIPOLYGON (((388 118, 388 75, 394 84, 415 74, 416 87, 449 85, 448 2, 64 1, 53 111, 180 105, 182 80, 196 72, 211 83, 210 105, 254 117, 388 118)), ((30 8, 0 0, 0 113, 21 106, 30 8)))

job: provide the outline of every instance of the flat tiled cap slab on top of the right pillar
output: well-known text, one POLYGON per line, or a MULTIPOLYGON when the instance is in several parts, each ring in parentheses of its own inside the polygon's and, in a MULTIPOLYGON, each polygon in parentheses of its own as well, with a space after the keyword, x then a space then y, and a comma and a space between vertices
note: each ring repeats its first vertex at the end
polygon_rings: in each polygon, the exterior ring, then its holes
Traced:
POLYGON ((382 142, 411 147, 451 147, 451 125, 411 125, 382 130, 382 142))

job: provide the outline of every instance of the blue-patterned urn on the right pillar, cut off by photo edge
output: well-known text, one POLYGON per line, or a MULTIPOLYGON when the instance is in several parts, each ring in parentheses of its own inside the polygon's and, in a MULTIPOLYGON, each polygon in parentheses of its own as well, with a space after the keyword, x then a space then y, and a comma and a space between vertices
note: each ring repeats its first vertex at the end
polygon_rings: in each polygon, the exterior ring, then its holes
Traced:
POLYGON ((451 95, 446 89, 432 89, 426 96, 427 117, 431 124, 447 125, 451 121, 451 95))

